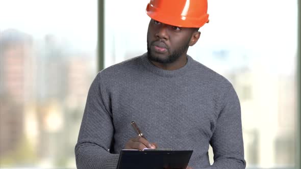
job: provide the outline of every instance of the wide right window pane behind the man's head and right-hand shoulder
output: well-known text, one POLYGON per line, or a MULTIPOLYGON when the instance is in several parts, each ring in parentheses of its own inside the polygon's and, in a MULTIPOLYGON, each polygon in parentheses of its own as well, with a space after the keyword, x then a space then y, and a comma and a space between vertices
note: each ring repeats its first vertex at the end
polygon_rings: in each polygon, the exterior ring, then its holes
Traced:
MULTIPOLYGON (((146 52, 148 2, 105 2, 105 67, 146 52)), ((209 0, 208 5, 210 22, 188 54, 236 89, 247 168, 293 168, 297 0, 209 0)))

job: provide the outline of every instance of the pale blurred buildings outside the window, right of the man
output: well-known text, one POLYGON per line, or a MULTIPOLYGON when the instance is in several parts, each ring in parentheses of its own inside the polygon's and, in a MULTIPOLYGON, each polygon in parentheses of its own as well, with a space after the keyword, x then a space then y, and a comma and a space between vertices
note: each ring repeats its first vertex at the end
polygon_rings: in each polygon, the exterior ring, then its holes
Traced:
POLYGON ((245 158, 263 167, 289 166, 295 159, 295 78, 254 67, 229 75, 241 102, 245 158))

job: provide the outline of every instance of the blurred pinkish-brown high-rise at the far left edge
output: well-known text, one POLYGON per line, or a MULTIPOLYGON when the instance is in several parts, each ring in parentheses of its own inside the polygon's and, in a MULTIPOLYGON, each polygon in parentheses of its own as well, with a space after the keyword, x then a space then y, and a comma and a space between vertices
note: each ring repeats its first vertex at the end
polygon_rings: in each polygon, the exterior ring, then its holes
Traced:
POLYGON ((32 91, 32 44, 26 33, 0 32, 0 158, 23 139, 24 101, 32 91))

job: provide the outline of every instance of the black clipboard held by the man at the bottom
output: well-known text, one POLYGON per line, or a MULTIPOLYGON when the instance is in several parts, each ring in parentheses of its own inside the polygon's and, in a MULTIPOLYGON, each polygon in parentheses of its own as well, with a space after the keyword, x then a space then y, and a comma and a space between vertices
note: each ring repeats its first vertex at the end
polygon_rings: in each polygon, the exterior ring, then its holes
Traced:
POLYGON ((117 169, 185 169, 192 150, 121 150, 117 169))

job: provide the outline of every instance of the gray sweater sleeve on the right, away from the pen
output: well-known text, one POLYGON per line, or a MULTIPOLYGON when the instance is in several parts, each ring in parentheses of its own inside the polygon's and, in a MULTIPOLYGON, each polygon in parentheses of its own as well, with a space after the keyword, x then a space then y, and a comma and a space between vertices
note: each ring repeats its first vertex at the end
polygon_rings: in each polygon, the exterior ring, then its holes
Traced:
POLYGON ((210 140, 214 163, 206 169, 243 169, 246 162, 243 150, 241 110, 239 99, 232 85, 221 102, 224 104, 210 140))

